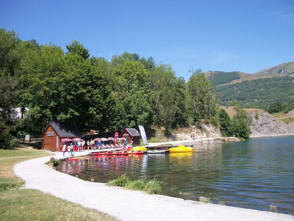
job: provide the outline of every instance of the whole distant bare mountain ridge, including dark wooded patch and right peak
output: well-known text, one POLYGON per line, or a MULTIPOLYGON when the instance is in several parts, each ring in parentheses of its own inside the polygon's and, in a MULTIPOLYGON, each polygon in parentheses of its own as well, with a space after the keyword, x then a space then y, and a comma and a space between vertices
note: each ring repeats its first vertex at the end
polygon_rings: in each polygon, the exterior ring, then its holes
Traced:
POLYGON ((215 86, 240 83, 244 80, 256 80, 258 78, 268 77, 294 77, 294 62, 286 62, 275 67, 269 67, 254 74, 246 74, 240 71, 223 72, 223 71, 207 71, 205 77, 215 86))

